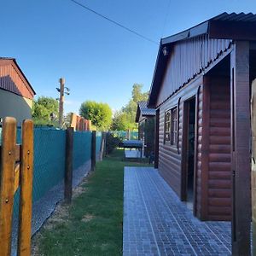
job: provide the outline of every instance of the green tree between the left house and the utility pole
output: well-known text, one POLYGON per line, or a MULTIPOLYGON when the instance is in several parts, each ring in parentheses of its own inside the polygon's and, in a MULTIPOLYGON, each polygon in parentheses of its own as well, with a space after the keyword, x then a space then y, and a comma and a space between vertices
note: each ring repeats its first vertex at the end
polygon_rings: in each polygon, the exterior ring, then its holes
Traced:
POLYGON ((52 125, 51 113, 58 117, 59 102, 51 97, 40 96, 32 105, 32 119, 36 124, 52 125))

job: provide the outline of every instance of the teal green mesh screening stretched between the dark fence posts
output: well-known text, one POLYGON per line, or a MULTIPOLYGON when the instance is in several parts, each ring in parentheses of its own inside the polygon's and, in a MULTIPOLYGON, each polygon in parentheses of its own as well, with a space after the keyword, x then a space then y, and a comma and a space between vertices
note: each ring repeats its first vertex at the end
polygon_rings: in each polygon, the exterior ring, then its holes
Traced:
MULTIPOLYGON (((0 127, 0 144, 2 128, 0 127)), ((96 153, 101 147, 102 133, 96 134, 96 153)), ((21 129, 17 129, 17 143, 21 143, 21 129)), ((90 160, 91 132, 73 133, 73 170, 90 160)), ((34 171, 32 201, 38 201, 55 185, 60 183, 65 174, 66 131, 34 129, 34 171)), ((15 193, 14 217, 19 214, 20 189, 15 193)))

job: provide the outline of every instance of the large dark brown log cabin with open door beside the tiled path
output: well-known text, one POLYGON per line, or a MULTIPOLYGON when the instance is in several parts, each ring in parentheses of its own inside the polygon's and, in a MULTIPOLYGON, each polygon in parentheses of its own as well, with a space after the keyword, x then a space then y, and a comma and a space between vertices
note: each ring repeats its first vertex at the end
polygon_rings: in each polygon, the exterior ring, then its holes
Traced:
POLYGON ((162 177, 202 220, 230 220, 233 198, 245 230, 255 28, 256 15, 224 13, 161 39, 148 98, 162 177))

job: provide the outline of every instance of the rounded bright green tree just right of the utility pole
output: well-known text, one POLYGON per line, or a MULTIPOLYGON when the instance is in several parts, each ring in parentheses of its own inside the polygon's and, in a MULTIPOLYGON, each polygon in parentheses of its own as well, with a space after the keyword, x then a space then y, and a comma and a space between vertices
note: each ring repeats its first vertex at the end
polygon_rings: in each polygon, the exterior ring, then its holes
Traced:
POLYGON ((86 101, 81 104, 79 113, 91 120, 98 130, 108 130, 112 122, 112 110, 107 103, 86 101))

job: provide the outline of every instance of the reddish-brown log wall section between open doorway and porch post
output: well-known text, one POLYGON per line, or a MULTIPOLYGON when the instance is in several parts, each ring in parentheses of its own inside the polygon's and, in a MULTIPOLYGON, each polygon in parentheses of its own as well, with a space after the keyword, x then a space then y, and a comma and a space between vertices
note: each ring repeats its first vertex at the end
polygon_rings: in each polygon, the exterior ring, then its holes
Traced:
POLYGON ((230 78, 206 76, 199 97, 196 215, 230 220, 230 78))

